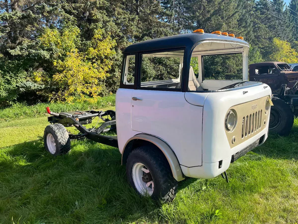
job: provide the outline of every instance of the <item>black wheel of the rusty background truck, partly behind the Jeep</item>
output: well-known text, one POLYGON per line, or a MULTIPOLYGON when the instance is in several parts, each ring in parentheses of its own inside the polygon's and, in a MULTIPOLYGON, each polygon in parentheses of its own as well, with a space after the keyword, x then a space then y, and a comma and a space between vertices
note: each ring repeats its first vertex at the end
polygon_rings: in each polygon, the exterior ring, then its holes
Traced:
POLYGON ((269 131, 286 136, 290 133, 294 114, 291 107, 282 99, 272 97, 273 106, 270 111, 269 131))

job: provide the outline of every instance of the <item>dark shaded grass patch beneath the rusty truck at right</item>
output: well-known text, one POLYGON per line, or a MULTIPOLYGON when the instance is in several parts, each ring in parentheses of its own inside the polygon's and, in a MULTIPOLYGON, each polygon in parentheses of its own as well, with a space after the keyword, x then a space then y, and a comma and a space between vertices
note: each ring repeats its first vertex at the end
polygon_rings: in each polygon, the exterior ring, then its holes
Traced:
POLYGON ((298 160, 298 127, 293 127, 289 136, 269 132, 264 144, 253 151, 266 157, 298 160))

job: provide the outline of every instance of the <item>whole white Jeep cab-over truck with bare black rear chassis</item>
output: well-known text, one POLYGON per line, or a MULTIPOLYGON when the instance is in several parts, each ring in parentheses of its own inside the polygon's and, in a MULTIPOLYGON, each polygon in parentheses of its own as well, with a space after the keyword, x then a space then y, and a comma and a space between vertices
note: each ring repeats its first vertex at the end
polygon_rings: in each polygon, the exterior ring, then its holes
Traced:
POLYGON ((119 148, 138 194, 172 200, 184 177, 216 177, 267 139, 271 89, 247 81, 248 51, 243 39, 204 30, 132 44, 124 50, 116 114, 48 109, 54 116, 46 149, 68 152, 69 138, 78 136, 63 126, 74 125, 83 136, 119 148), (104 127, 82 126, 91 116, 108 115, 104 127), (100 135, 115 123, 117 136, 100 135))

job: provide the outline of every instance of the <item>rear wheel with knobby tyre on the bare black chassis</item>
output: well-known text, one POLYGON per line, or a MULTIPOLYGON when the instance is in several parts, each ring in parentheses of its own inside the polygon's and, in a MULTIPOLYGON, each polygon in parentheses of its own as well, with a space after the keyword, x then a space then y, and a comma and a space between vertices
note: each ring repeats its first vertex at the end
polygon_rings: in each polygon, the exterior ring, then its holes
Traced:
POLYGON ((44 130, 44 147, 53 156, 66 154, 70 150, 70 138, 61 124, 46 126, 44 130))

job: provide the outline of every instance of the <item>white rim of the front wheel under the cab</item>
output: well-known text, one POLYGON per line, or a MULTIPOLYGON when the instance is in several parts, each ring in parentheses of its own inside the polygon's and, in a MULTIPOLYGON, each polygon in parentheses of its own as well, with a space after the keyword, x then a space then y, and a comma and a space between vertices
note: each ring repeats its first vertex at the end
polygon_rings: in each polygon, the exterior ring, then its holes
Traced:
POLYGON ((132 168, 132 179, 134 180, 134 185, 142 195, 148 195, 151 196, 154 191, 154 182, 152 180, 152 177, 150 174, 150 171, 148 168, 141 162, 137 162, 134 164, 132 168), (146 175, 147 174, 147 175, 146 175), (145 175, 145 177, 148 178, 148 182, 143 181, 142 177, 145 175))

